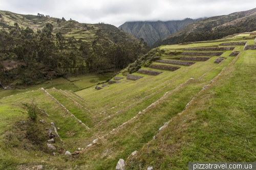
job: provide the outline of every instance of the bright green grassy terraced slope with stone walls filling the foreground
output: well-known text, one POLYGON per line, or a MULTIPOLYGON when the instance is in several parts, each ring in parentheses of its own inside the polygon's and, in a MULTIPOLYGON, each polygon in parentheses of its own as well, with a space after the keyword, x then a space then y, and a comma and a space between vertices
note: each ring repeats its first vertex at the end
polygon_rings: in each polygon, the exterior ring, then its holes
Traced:
POLYGON ((0 168, 115 169, 119 159, 126 169, 255 162, 256 51, 244 51, 241 41, 161 46, 160 60, 97 89, 40 88, 0 99, 0 168), (22 105, 31 101, 40 108, 34 122, 22 105))

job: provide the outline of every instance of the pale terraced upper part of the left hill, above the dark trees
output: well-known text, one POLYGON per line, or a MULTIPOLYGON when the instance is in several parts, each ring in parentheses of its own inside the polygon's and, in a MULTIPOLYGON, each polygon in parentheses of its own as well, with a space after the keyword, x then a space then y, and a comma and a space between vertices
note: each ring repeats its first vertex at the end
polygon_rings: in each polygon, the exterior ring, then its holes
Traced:
MULTIPOLYGON (((34 32, 41 30, 46 26, 46 23, 52 23, 53 34, 55 35, 57 31, 60 31, 65 38, 71 38, 74 36, 75 39, 81 39, 92 43, 96 37, 96 30, 101 29, 104 32, 111 33, 117 32, 118 28, 112 25, 103 23, 79 23, 75 20, 64 20, 55 17, 37 16, 37 15, 23 15, 16 14, 9 11, 0 10, 1 20, 0 20, 0 30, 8 31, 9 26, 14 26, 14 23, 18 23, 20 27, 31 28, 34 32)), ((126 34, 128 41, 133 41, 134 43, 139 43, 140 41, 130 34, 126 34)))

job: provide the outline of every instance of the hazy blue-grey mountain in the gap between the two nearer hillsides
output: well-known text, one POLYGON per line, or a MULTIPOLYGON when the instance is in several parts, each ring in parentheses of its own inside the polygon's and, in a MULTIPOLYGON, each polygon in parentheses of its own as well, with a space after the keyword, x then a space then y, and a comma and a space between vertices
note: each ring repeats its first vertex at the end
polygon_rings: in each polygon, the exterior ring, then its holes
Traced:
POLYGON ((174 34, 187 26, 189 23, 197 22, 199 19, 186 18, 183 20, 170 21, 135 21, 125 22, 119 26, 119 29, 134 35, 137 38, 143 38, 148 45, 153 45, 157 40, 163 39, 170 34, 174 34))

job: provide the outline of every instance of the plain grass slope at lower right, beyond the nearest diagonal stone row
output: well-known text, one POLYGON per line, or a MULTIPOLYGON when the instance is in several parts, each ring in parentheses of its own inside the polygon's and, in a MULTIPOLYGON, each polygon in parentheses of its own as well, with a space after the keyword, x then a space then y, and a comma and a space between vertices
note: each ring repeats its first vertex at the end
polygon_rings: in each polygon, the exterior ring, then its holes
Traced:
POLYGON ((129 169, 187 169, 188 162, 255 162, 255 51, 218 79, 139 152, 129 169))

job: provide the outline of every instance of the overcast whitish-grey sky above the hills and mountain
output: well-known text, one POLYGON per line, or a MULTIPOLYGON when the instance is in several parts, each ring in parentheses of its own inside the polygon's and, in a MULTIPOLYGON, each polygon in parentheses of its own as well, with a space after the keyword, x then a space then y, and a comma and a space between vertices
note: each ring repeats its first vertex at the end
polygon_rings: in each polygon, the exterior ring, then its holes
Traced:
POLYGON ((0 10, 19 14, 37 13, 83 23, 178 20, 227 15, 256 8, 255 0, 1 0, 0 10))

